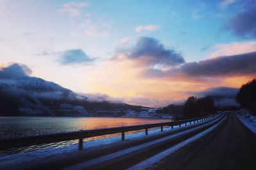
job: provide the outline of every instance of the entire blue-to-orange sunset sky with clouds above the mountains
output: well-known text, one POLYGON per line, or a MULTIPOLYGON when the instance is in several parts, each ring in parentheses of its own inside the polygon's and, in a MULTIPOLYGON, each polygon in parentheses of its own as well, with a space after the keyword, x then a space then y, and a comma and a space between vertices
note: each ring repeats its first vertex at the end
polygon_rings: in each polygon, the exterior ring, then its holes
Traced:
POLYGON ((0 0, 0 69, 159 107, 256 74, 253 0, 0 0))

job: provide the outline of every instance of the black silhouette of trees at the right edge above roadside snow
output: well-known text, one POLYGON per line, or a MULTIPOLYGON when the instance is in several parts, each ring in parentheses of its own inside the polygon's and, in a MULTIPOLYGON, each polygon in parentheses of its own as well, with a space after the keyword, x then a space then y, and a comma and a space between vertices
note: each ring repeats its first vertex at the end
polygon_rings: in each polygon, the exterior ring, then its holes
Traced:
POLYGON ((236 101, 256 115, 256 79, 242 85, 236 96, 236 101))

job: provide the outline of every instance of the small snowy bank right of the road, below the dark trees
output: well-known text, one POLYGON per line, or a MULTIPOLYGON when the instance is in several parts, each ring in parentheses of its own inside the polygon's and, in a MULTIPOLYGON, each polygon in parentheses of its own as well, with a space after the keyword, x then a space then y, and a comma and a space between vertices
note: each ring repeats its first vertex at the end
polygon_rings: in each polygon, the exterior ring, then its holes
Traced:
POLYGON ((256 115, 252 115, 248 110, 242 109, 237 111, 236 117, 244 124, 250 131, 256 134, 256 115))

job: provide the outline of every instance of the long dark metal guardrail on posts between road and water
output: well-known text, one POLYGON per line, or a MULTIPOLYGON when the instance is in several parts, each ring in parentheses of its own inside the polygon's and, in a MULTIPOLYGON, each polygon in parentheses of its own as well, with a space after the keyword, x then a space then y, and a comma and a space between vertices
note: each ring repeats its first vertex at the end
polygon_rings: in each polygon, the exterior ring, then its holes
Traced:
POLYGON ((35 135, 35 136, 26 136, 26 137, 18 137, 18 138, 6 138, 0 139, 0 150, 6 150, 10 148, 17 148, 17 147, 25 147, 31 145, 40 145, 40 144, 47 144, 47 143, 54 143, 60 141, 68 141, 68 140, 75 140, 79 139, 79 150, 83 149, 83 139, 84 138, 92 138, 95 136, 102 136, 106 134, 116 134, 121 133, 121 139, 125 139, 125 132, 129 131, 138 131, 145 129, 145 134, 148 135, 148 129, 154 127, 161 127, 161 131, 163 131, 164 126, 171 126, 173 129, 174 125, 182 124, 187 125, 191 122, 202 122, 207 120, 209 117, 213 117, 214 115, 210 115, 207 117, 201 118, 193 118, 188 120, 179 120, 173 122, 164 122, 164 123, 157 123, 157 124, 145 124, 145 125, 132 125, 132 126, 125 126, 125 127, 110 127, 105 129, 93 129, 88 131, 76 131, 76 132, 64 132, 64 133, 56 133, 56 134, 42 134, 42 135, 35 135))

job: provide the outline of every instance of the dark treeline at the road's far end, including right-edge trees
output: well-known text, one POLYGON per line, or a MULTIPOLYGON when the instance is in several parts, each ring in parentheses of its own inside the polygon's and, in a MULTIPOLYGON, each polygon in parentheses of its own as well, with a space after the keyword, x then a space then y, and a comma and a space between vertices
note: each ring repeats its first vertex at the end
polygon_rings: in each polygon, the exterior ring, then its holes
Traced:
MULTIPOLYGON (((213 96, 214 97, 214 96, 213 96)), ((216 98, 215 98, 216 99, 216 98)), ((256 115, 256 79, 245 83, 240 88, 236 95, 236 101, 241 105, 242 108, 246 108, 253 115, 256 115)), ((187 101, 183 105, 170 104, 158 110, 159 114, 170 114, 175 116, 177 119, 205 117, 212 115, 216 111, 226 110, 238 110, 239 106, 214 106, 214 99, 212 96, 205 97, 188 97, 187 101)))

